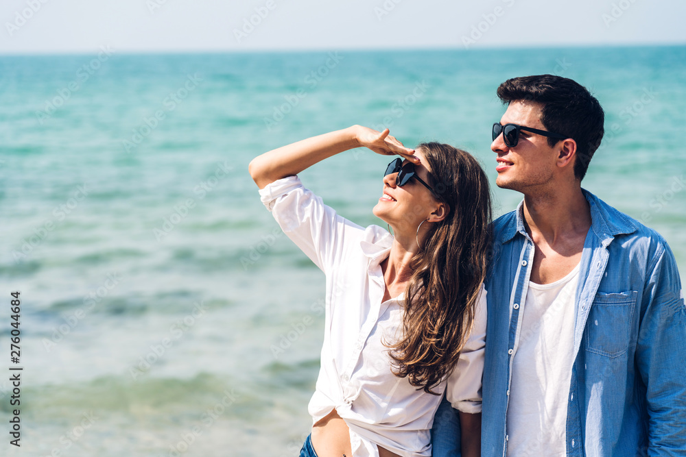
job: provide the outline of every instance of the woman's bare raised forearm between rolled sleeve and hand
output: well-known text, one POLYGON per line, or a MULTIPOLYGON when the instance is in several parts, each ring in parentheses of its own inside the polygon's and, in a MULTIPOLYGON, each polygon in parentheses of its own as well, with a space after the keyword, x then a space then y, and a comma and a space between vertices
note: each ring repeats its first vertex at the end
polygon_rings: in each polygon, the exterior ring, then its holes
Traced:
POLYGON ((265 152, 250 162, 250 176, 259 188, 264 188, 282 177, 296 175, 325 158, 359 147, 356 127, 353 125, 265 152))

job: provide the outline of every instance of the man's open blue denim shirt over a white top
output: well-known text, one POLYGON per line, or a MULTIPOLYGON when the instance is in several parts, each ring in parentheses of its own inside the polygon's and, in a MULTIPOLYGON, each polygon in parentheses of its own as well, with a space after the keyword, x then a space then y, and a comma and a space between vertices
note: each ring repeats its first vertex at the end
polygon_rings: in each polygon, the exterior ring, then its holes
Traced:
MULTIPOLYGON (((686 308, 674 255, 657 232, 583 193, 592 222, 576 291, 567 455, 686 456, 686 308)), ((493 223, 482 456, 507 453, 519 304, 534 260, 522 206, 493 223)), ((459 455, 442 432, 457 419, 446 408, 434 421, 436 457, 459 455)))

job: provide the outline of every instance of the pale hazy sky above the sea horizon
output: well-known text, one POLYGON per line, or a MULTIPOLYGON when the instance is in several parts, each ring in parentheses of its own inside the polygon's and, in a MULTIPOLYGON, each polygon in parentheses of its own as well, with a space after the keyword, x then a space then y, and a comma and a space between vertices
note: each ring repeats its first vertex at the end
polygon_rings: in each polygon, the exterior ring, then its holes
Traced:
POLYGON ((686 44, 684 18, 683 0, 3 0, 0 53, 686 44))

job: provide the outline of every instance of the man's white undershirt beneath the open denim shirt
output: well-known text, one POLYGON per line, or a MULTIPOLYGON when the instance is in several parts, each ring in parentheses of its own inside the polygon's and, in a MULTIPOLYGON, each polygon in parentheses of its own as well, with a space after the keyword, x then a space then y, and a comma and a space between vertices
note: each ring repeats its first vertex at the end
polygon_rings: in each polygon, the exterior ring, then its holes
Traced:
POLYGON ((510 456, 566 456, 579 265, 550 284, 529 282, 512 361, 510 456))

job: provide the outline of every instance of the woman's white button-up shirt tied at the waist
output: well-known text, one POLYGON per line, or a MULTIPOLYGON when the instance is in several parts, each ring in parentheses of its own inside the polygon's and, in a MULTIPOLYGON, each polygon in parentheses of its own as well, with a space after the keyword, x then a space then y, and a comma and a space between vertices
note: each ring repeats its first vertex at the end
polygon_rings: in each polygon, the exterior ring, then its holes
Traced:
MULTIPOLYGON (((303 187, 297 176, 259 191, 283 232, 327 278, 324 345, 316 391, 309 402, 313 424, 335 409, 350 430, 353 457, 378 456, 377 445, 401 456, 431 456, 431 425, 440 395, 425 393, 391 372, 389 348, 402 330, 405 293, 383 301, 380 263, 392 236, 360 227, 336 214, 303 187)), ((458 363, 438 393, 454 408, 481 412, 486 341, 486 291, 458 363)))

